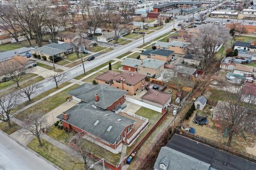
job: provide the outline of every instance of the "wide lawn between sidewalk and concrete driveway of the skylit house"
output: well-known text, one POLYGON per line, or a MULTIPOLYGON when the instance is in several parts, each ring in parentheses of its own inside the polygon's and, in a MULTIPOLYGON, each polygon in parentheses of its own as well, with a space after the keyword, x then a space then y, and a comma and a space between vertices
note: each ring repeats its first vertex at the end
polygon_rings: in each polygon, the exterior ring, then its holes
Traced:
POLYGON ((38 111, 40 111, 40 113, 42 115, 52 111, 52 109, 60 106, 61 104, 66 102, 66 98, 69 97, 69 95, 66 94, 66 92, 73 90, 75 88, 79 87, 78 84, 75 84, 61 92, 59 92, 58 94, 51 96, 41 102, 39 102, 38 104, 29 107, 28 109, 26 109, 25 111, 20 112, 19 114, 15 115, 15 117, 19 118, 20 120, 23 120, 24 118, 27 118, 28 115, 36 113, 38 111))

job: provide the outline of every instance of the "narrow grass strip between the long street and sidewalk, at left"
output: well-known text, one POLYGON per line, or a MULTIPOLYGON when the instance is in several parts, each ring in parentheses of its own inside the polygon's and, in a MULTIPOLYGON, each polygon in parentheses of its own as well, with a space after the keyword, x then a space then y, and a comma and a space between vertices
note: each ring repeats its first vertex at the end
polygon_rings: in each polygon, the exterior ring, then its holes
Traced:
MULTIPOLYGON (((65 83, 60 84, 60 85, 59 85, 59 89, 65 87, 65 86, 68 86, 68 84, 71 84, 71 83, 70 83, 70 82, 65 82, 65 83)), ((37 95, 36 97, 31 98, 31 101, 30 101, 30 102, 29 102, 29 101, 25 101, 24 103, 17 105, 17 107, 15 107, 12 112, 19 111, 19 109, 21 109, 21 108, 23 108, 23 107, 25 107, 25 106, 28 106, 28 105, 30 105, 31 103, 34 103, 35 101, 37 101, 37 100, 39 100, 39 99, 42 99, 43 97, 48 96, 48 95, 50 95, 51 93, 53 93, 54 91, 57 91, 57 90, 59 90, 59 89, 57 89, 57 88, 52 88, 52 89, 50 89, 50 90, 47 90, 47 91, 45 91, 45 92, 42 92, 40 95, 37 95)))

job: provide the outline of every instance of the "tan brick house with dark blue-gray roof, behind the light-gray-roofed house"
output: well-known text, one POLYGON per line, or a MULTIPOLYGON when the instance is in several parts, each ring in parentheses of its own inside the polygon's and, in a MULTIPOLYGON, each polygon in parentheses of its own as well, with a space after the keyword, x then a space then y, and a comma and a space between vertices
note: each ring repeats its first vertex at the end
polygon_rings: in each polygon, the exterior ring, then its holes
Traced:
POLYGON ((144 52, 140 53, 141 60, 145 58, 151 58, 155 60, 162 60, 164 62, 169 62, 172 60, 173 51, 167 49, 155 49, 155 50, 145 50, 144 52))

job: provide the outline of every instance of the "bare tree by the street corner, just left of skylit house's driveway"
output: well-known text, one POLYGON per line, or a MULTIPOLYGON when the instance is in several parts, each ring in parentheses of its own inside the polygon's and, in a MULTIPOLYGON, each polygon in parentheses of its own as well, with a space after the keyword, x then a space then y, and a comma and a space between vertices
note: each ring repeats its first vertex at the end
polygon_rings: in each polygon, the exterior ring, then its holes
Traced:
POLYGON ((43 143, 40 136, 46 123, 46 116, 42 116, 42 113, 30 114, 29 117, 25 119, 25 126, 22 129, 22 133, 25 135, 34 135, 39 142, 39 147, 42 147, 43 143))

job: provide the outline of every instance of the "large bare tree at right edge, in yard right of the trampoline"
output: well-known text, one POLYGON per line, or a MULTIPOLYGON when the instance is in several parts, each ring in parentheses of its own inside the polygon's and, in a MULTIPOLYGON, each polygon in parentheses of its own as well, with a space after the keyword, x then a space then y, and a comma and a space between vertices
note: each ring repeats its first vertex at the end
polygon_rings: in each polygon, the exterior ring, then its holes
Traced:
POLYGON ((241 88, 228 91, 226 96, 228 101, 217 105, 214 120, 218 120, 222 128, 228 130, 227 145, 230 146, 233 137, 239 131, 250 131, 255 128, 256 97, 244 95, 241 88))

